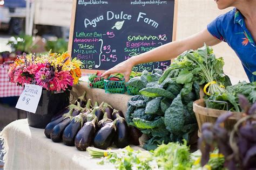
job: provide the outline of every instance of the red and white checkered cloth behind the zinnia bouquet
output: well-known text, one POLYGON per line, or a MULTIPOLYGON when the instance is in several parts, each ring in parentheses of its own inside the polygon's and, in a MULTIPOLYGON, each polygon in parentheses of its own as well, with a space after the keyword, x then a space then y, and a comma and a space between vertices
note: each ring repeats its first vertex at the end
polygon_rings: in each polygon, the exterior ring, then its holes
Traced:
POLYGON ((8 68, 9 66, 0 68, 0 97, 20 96, 23 88, 21 86, 17 86, 15 83, 9 82, 7 74, 8 68))

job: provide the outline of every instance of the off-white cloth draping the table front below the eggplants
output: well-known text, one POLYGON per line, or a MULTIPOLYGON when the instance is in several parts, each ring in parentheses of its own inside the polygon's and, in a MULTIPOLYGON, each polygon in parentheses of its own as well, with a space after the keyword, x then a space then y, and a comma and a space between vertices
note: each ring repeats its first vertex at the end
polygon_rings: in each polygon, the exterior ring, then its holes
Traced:
MULTIPOLYGON (((4 169, 114 169, 112 164, 98 165, 100 159, 90 158, 75 146, 53 143, 43 129, 31 128, 27 119, 7 125, 4 138, 4 169)), ((138 147, 133 147, 138 149, 138 147)))

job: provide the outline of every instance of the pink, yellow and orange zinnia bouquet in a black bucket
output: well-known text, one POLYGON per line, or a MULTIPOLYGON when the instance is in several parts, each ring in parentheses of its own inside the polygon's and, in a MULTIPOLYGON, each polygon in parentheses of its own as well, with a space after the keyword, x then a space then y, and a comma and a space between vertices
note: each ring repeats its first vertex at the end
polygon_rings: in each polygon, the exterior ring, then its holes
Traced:
POLYGON ((8 76, 12 83, 43 87, 36 114, 27 112, 30 126, 45 128, 58 111, 69 105, 70 89, 79 82, 81 62, 68 53, 48 53, 40 56, 23 54, 9 62, 8 76))

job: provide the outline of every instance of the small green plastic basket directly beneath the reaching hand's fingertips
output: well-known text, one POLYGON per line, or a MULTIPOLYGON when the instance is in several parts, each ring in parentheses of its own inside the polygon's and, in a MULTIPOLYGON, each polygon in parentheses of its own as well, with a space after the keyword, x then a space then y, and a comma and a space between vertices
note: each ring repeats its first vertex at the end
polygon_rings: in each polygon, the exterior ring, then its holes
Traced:
POLYGON ((105 93, 125 93, 125 82, 124 81, 110 81, 104 80, 105 93))

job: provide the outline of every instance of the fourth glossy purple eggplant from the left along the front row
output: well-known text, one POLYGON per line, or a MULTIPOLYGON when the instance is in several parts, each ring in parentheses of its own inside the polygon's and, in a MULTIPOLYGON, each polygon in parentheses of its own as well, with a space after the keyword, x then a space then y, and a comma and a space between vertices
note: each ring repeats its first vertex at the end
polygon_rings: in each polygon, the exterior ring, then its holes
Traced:
POLYGON ((96 132, 96 122, 97 117, 95 117, 91 122, 86 122, 77 133, 75 138, 75 146, 79 151, 86 151, 86 148, 91 146, 96 132))

